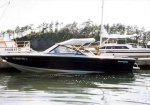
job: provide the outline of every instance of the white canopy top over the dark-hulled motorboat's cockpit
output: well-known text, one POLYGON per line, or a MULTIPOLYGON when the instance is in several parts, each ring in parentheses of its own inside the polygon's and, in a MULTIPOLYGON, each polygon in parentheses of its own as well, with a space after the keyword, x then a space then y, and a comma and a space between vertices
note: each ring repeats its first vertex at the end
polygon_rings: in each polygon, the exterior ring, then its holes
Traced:
POLYGON ((95 42, 94 38, 69 39, 64 42, 57 43, 59 45, 84 45, 86 43, 95 42))

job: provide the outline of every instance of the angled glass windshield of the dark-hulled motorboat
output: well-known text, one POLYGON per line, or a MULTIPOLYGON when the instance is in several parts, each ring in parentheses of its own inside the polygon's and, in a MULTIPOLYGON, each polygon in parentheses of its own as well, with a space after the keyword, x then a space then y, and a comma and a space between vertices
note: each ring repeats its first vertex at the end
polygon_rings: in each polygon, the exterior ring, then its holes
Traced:
POLYGON ((59 45, 53 50, 51 50, 49 53, 51 54, 75 54, 75 55, 84 55, 78 50, 74 50, 70 47, 59 45))

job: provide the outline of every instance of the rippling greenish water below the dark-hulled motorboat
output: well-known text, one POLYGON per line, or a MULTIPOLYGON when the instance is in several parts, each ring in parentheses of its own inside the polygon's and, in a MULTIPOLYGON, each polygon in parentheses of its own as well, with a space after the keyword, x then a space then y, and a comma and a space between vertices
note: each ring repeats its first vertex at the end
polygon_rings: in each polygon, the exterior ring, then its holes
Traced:
POLYGON ((127 74, 0 72, 0 105, 150 105, 150 70, 127 74))

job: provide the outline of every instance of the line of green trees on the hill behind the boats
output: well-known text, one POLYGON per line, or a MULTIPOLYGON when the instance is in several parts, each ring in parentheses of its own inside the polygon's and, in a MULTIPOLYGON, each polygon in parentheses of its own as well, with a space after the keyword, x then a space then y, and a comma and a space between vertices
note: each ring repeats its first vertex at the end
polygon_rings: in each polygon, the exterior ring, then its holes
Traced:
MULTIPOLYGON (((23 27, 17 26, 15 30, 8 29, 2 31, 1 37, 9 36, 18 39, 18 37, 25 37, 28 40, 33 38, 46 38, 46 40, 53 40, 54 42, 61 42, 70 38, 95 38, 99 41, 99 35, 101 33, 101 25, 94 24, 90 19, 78 24, 73 22, 67 25, 63 25, 62 22, 42 23, 38 27, 33 28, 33 24, 23 27)), ((138 26, 126 26, 121 23, 113 25, 103 25, 108 34, 120 34, 123 35, 127 32, 128 35, 138 34, 143 43, 150 38, 150 31, 145 31, 144 28, 139 29, 138 26)))

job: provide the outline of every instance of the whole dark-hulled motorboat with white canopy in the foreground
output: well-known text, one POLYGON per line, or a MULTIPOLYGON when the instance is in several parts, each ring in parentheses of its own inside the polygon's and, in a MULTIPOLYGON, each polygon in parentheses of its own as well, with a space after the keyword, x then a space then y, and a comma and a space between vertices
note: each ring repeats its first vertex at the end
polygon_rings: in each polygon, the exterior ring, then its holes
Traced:
POLYGON ((20 71, 67 74, 132 72, 133 58, 95 55, 79 46, 94 41, 94 38, 70 39, 43 52, 5 53, 0 56, 20 71))

